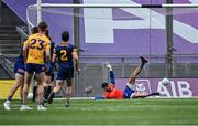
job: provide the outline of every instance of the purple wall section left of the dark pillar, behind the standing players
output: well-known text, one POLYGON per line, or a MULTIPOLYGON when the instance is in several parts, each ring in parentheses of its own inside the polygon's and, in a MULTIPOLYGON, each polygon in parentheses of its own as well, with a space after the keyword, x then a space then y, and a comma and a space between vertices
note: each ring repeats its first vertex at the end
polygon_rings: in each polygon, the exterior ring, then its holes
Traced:
MULTIPOLYGON (((35 4, 36 0, 3 0, 24 22, 26 22, 26 7, 35 4)), ((43 3, 73 3, 73 0, 42 0, 43 3)), ((55 9, 57 10, 57 9, 55 9)), ((73 9, 67 9, 68 12, 73 12, 73 9)), ((36 11, 31 11, 36 15, 36 11)), ((36 19, 34 20, 36 21, 36 19)), ((61 42, 61 33, 63 30, 68 30, 72 33, 70 42, 73 43, 73 17, 63 17, 59 14, 53 14, 51 12, 43 12, 43 21, 48 23, 51 36, 55 43, 61 42)), ((34 22, 36 23, 36 22, 34 22)))

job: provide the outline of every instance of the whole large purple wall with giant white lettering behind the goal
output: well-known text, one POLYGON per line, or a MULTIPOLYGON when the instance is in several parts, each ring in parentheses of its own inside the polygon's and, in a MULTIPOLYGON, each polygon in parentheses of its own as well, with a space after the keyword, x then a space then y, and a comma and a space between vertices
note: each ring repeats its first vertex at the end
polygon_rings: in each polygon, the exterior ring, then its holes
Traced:
MULTIPOLYGON (((70 3, 73 0, 43 0, 47 3, 70 3)), ((36 0, 4 0, 4 2, 25 21, 25 11, 29 4, 36 0)), ((116 3, 113 0, 81 0, 82 3, 116 3)), ((122 0, 124 3, 164 3, 165 0, 122 0)), ((188 0, 174 0, 175 3, 190 3, 188 0)), ((53 11, 63 12, 61 9, 53 11)), ((165 54, 166 30, 164 9, 106 9, 101 12, 96 9, 80 10, 80 45, 85 50, 82 55, 131 55, 131 54, 165 54), (144 17, 145 14, 145 17, 144 17), (103 18, 103 19, 97 19, 103 18), (150 17, 151 15, 151 17, 150 17), (95 17, 95 18, 92 18, 95 17), (119 17, 122 17, 119 19, 119 17)), ((56 43, 61 42, 63 30, 73 35, 74 21, 72 9, 65 9, 64 14, 54 14, 44 11, 43 20, 50 24, 51 35, 56 43), (67 13, 67 15, 66 15, 67 13)), ((198 11, 174 9, 174 48, 176 54, 197 54, 198 51, 198 11), (185 13, 185 14, 184 14, 185 13)), ((72 36, 73 43, 74 36, 72 36)))

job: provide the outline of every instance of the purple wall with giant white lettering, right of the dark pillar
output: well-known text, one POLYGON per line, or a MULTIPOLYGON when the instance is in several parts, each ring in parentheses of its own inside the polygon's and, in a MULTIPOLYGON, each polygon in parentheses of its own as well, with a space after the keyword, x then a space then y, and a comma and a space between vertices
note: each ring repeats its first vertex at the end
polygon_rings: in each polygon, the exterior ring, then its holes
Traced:
MULTIPOLYGON (((96 0, 97 1, 97 0, 96 0)), ((95 2, 96 2, 95 1, 95 2)), ((99 0, 98 0, 99 1, 99 0)), ((100 0, 99 3, 105 2, 106 0, 100 0)), ((111 1, 111 0, 109 0, 111 1)), ((108 2, 109 2, 108 1, 108 2)), ((125 0, 129 2, 129 0, 125 0)), ((162 0, 133 0, 138 3, 164 3, 162 0)), ((95 3, 91 0, 84 0, 84 3, 95 3)), ((114 3, 116 1, 113 1, 114 3)), ((190 3, 187 0, 175 0, 175 3, 190 3)), ((118 2, 119 3, 119 2, 118 2)), ((124 2, 125 3, 125 2, 124 2)), ((133 2, 131 2, 133 3, 133 2)), ((101 12, 101 15, 105 19, 100 21, 89 20, 89 19, 81 19, 81 29, 85 30, 81 33, 81 46, 86 50, 84 53, 85 55, 89 54, 99 54, 99 55, 130 55, 130 54, 165 54, 166 53, 166 30, 165 30, 165 9, 153 9, 152 12, 147 9, 140 9, 139 11, 144 10, 143 12, 130 12, 124 9, 112 9, 112 19, 108 19, 108 9, 106 13, 101 12), (146 22, 146 18, 142 17, 141 14, 151 14, 146 22), (107 19, 106 19, 107 15, 107 19), (123 19, 119 19, 118 17, 123 17, 123 19), (124 18, 130 17, 130 18, 124 18), (110 21, 109 21, 110 20, 110 21), (140 22, 135 22, 135 21, 140 22), (124 28, 124 23, 129 23, 131 21, 131 29, 130 24, 128 28, 124 28), (143 23, 141 24, 141 21, 143 23), (116 23, 113 27, 112 23, 116 23), (134 24, 134 23, 135 24, 134 24), (91 25, 92 23, 92 25, 91 25), (160 24, 157 24, 160 23, 160 24), (86 25, 87 24, 87 25, 86 25), (119 27, 118 27, 119 24, 119 27), (92 27, 92 31, 89 30, 92 27), (123 27, 122 27, 123 25, 123 27), (139 25, 139 27, 136 27, 139 25), (142 27, 147 25, 147 27, 142 27), (103 31, 101 30, 103 27, 103 31), (136 27, 136 28, 135 28, 136 27), (86 30, 88 29, 88 30, 86 30), (113 30, 111 30, 113 29, 113 30), (112 33, 110 33, 112 32, 112 33), (109 34, 108 34, 109 33, 109 34), (95 35, 96 34, 96 35, 95 35), (108 34, 108 35, 107 35, 108 34), (94 36, 91 39, 86 39, 89 36, 94 36), (107 35, 107 36, 106 36, 107 35), (101 39, 101 38, 110 38, 112 39, 101 39), (98 39, 98 40, 97 40, 98 39), (88 40, 88 41, 87 41, 88 40), (99 41, 101 40, 101 41, 99 41)), ((84 10, 84 14, 87 17, 92 14, 88 12, 87 9, 84 10)), ((91 11, 91 9, 90 9, 91 11)), ((92 10, 94 11, 94 10, 92 10)), ((109 12, 111 13, 111 12, 109 12)), ((97 13, 96 14, 100 14, 97 13)), ((175 54, 197 54, 198 50, 198 11, 197 9, 174 9, 174 48, 177 50, 175 54), (185 13, 185 14, 184 14, 185 13)), ((92 17, 95 13, 92 14, 92 17)), ((99 17, 100 18, 100 17, 99 17)))

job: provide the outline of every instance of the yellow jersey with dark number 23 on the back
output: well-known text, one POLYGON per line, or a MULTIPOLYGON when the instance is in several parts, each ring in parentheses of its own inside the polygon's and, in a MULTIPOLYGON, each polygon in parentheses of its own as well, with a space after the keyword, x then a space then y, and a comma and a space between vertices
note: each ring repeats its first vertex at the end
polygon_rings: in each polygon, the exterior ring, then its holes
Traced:
POLYGON ((41 33, 32 34, 26 40, 28 44, 28 59, 26 63, 44 64, 45 51, 51 48, 50 39, 41 33))

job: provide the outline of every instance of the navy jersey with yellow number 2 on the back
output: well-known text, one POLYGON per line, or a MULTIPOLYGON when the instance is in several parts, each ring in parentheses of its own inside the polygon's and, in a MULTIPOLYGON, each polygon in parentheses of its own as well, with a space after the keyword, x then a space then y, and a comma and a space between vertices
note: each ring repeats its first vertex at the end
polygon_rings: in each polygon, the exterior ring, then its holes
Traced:
POLYGON ((73 52, 76 52, 76 49, 69 43, 67 45, 61 44, 56 46, 55 54, 57 57, 58 69, 74 67, 73 52))

